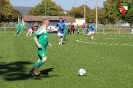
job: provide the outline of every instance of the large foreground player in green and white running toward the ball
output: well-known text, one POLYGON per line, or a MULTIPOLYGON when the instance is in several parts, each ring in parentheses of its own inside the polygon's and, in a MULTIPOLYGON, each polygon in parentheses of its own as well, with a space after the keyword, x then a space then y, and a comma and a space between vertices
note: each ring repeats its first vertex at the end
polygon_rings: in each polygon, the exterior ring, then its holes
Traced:
POLYGON ((29 74, 32 76, 38 75, 39 67, 47 60, 46 47, 51 47, 51 44, 48 43, 48 32, 46 30, 48 25, 49 20, 43 19, 42 26, 34 34, 34 41, 36 43, 36 50, 38 53, 38 60, 37 62, 35 62, 34 66, 29 72, 29 74))

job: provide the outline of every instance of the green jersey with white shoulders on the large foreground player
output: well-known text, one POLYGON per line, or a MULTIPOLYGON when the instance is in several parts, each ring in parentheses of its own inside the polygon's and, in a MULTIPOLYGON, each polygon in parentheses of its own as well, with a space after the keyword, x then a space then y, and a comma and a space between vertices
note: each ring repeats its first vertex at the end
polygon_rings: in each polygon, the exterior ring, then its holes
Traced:
POLYGON ((40 27, 37 32, 34 34, 34 37, 38 38, 39 44, 42 48, 46 48, 48 45, 48 32, 45 28, 40 27))

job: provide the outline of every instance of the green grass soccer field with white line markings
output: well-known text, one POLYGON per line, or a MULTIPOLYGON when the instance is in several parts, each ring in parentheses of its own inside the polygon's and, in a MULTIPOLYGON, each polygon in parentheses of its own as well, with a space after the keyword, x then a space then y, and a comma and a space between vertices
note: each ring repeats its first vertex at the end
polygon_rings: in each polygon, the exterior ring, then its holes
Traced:
POLYGON ((38 77, 28 75, 37 60, 32 37, 0 34, 0 88, 132 88, 133 36, 68 35, 62 46, 49 35, 48 60, 38 77), (85 68, 86 76, 78 76, 85 68))

